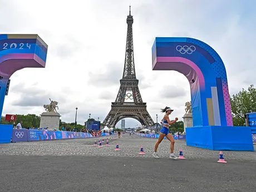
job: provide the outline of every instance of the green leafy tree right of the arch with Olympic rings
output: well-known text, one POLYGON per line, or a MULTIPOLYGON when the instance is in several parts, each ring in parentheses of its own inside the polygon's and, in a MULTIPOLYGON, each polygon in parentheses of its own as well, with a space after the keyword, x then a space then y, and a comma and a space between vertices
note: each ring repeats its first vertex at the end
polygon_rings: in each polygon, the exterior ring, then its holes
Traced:
POLYGON ((230 97, 234 126, 244 126, 244 115, 256 111, 256 88, 250 85, 248 90, 242 89, 230 97))

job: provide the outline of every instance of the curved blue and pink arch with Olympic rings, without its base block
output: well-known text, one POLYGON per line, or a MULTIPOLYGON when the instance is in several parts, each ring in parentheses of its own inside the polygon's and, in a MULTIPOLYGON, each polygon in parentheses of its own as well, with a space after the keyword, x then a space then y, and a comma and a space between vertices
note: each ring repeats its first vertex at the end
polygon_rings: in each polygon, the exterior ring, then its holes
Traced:
POLYGON ((188 78, 193 126, 233 126, 225 66, 209 45, 193 38, 156 37, 152 68, 188 78))

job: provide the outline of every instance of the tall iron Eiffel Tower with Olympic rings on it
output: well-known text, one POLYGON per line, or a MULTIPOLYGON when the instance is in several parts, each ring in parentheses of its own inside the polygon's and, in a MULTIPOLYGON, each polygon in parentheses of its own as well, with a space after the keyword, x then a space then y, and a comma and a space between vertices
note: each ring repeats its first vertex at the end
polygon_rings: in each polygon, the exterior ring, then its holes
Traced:
POLYGON ((103 124, 109 127, 115 127, 117 122, 119 122, 121 119, 130 117, 148 127, 153 125, 154 121, 149 115, 149 112, 147 112, 146 103, 142 101, 138 86, 139 80, 136 78, 134 66, 134 45, 132 37, 132 23, 134 23, 134 19, 131 16, 131 6, 126 23, 127 38, 124 73, 122 75, 122 79, 120 80, 120 88, 119 92, 117 93, 116 100, 115 102, 112 102, 111 110, 106 119, 103 121, 103 124), (133 102, 125 102, 125 100, 131 97, 133 102))

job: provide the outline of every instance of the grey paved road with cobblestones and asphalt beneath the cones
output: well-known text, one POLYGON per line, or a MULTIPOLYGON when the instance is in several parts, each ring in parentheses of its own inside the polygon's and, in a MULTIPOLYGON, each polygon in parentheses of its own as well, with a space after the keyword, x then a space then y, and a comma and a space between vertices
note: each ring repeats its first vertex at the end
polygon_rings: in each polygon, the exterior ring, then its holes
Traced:
POLYGON ((0 191, 256 191, 256 152, 225 151, 228 163, 220 164, 218 151, 176 141, 175 152, 182 148, 188 159, 175 161, 166 140, 161 159, 152 158, 155 139, 125 134, 102 148, 94 140, 0 145, 0 191))

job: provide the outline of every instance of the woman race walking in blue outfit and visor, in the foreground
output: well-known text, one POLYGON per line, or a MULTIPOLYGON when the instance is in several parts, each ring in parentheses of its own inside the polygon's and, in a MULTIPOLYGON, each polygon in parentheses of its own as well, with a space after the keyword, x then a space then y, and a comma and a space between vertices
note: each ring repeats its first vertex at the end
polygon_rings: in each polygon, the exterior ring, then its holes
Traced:
POLYGON ((159 159, 159 156, 156 154, 157 151, 157 147, 159 146, 159 144, 161 143, 161 141, 163 141, 164 137, 166 136, 166 138, 171 141, 171 154, 170 154, 170 158, 171 159, 178 159, 178 157, 176 157, 173 154, 174 151, 174 138, 173 135, 170 134, 169 132, 169 125, 173 125, 176 121, 178 121, 178 118, 176 117, 174 121, 170 121, 169 119, 169 115, 171 114, 171 112, 173 112, 173 109, 171 109, 170 107, 165 107, 165 109, 161 109, 161 112, 165 112, 165 116, 163 118, 163 127, 160 130, 160 135, 159 138, 155 144, 155 151, 153 153, 153 156, 156 159, 159 159))

